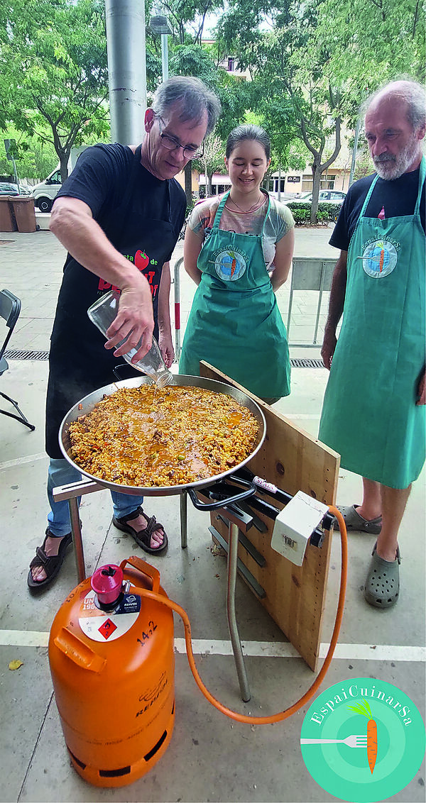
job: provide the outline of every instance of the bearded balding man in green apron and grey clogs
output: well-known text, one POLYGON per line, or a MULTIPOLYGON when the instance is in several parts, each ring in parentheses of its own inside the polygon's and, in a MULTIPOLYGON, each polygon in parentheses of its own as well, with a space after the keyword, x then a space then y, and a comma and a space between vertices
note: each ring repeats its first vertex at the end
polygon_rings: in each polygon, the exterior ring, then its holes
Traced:
POLYGON ((341 253, 318 437, 363 477, 363 503, 340 509, 348 530, 378 536, 364 596, 382 609, 399 597, 399 526, 425 458, 425 122, 424 88, 414 81, 393 81, 367 101, 376 173, 350 187, 330 238, 341 253))

